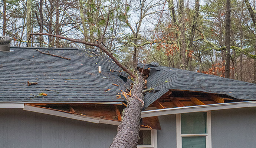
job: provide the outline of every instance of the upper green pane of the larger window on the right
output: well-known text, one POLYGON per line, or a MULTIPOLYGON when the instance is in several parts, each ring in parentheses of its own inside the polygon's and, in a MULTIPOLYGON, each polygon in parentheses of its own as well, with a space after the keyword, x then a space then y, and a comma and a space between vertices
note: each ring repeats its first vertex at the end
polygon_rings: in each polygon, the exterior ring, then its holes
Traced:
POLYGON ((181 114, 181 134, 206 134, 207 113, 191 112, 181 114))

